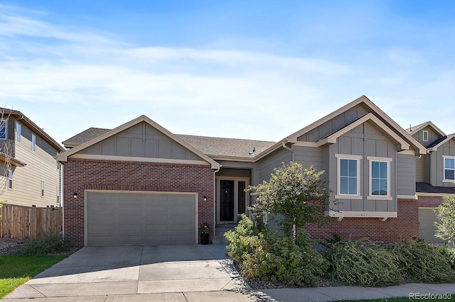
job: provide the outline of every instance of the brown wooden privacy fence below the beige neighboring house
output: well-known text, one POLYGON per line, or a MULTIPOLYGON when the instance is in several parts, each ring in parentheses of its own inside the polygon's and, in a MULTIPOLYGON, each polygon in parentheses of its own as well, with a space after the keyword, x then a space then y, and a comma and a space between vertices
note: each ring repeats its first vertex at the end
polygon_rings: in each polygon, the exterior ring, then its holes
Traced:
POLYGON ((36 208, 5 204, 0 208, 0 237, 36 239, 43 233, 60 233, 63 208, 36 208))

